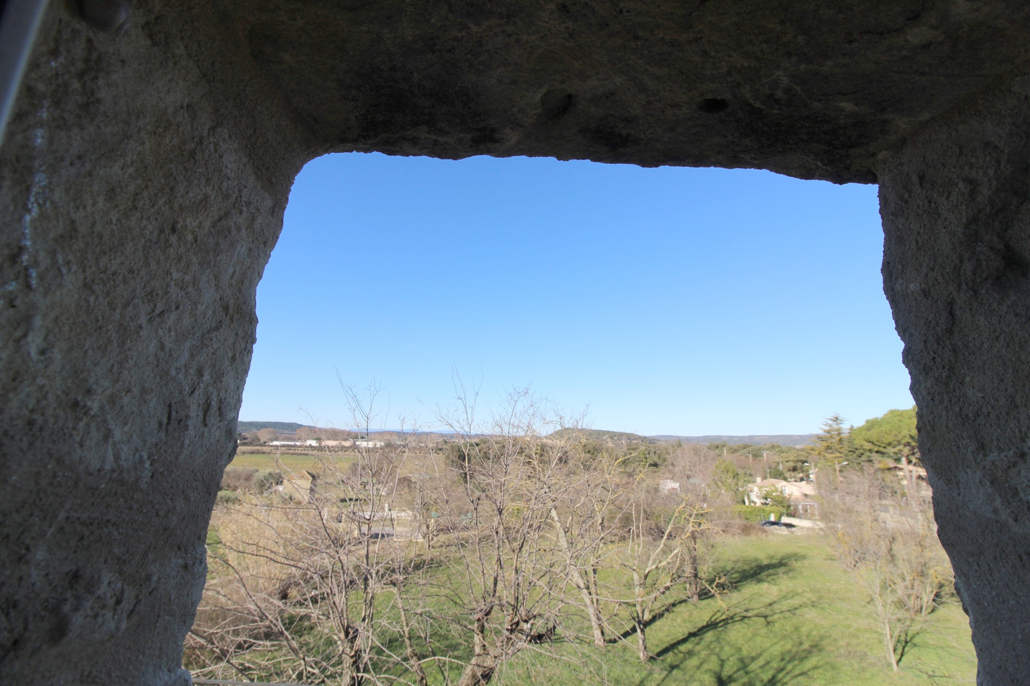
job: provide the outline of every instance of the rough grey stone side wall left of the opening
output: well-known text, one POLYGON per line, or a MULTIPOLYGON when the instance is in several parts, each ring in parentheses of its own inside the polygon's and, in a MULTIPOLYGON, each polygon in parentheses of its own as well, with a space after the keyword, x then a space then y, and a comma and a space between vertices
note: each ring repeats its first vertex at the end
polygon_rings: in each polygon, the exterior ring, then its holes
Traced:
POLYGON ((0 149, 5 684, 187 682, 254 289, 310 148, 216 14, 160 4, 118 34, 52 2, 0 149))

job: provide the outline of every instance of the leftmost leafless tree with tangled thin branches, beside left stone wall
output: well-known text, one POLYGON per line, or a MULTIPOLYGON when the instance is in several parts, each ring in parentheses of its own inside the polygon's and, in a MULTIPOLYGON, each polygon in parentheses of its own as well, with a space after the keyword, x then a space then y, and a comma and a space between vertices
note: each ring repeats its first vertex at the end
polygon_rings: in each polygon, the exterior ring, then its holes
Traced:
MULTIPOLYGON (((368 430, 378 388, 364 398, 345 391, 368 430)), ((407 448, 362 448, 350 468, 338 457, 307 478, 286 470, 274 498, 243 502, 218 522, 218 579, 187 644, 205 674, 360 686, 390 673, 426 683, 417 609, 405 598, 420 565, 419 513, 397 507, 407 448), (398 635, 401 653, 390 648, 398 635)))

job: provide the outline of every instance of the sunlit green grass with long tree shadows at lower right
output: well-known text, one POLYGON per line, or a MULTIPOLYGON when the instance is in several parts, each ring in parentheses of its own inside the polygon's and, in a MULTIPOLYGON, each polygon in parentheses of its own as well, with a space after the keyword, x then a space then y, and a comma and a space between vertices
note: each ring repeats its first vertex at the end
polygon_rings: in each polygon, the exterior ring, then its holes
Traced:
MULTIPOLYGON (((893 673, 864 592, 818 534, 724 540, 735 590, 680 603, 653 623, 657 658, 641 663, 625 644, 576 651, 580 664, 524 654, 497 683, 785 686, 975 683, 976 661, 961 609, 930 615, 893 673), (732 562, 730 562, 732 561, 732 562), (583 666, 585 664, 585 667, 583 666)), ((634 636, 628 636, 632 642, 634 636)))

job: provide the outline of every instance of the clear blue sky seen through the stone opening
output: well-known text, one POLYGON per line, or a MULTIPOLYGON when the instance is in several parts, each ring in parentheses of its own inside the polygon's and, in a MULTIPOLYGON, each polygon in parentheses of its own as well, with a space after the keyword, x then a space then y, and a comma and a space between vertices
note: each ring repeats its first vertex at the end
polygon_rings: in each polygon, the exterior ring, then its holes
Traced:
MULTIPOLYGON (((877 187, 768 172, 337 154, 258 288, 240 419, 346 427, 531 385, 595 428, 810 433, 912 405, 877 187)), ((393 426, 396 422, 385 421, 393 426)))

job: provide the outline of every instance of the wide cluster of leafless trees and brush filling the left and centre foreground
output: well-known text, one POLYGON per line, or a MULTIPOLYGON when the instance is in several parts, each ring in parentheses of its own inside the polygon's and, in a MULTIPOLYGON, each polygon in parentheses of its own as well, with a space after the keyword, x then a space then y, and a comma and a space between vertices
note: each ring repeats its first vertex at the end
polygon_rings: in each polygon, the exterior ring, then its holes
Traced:
MULTIPOLYGON (((349 397, 371 424, 374 389, 349 397)), ((612 643, 652 659, 656 616, 723 589, 710 450, 598 439, 528 392, 485 425, 464 398, 438 419, 440 452, 360 449, 219 508, 187 666, 351 686, 484 685, 516 656, 588 671, 612 643)))

